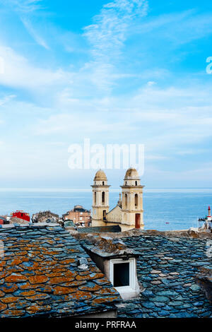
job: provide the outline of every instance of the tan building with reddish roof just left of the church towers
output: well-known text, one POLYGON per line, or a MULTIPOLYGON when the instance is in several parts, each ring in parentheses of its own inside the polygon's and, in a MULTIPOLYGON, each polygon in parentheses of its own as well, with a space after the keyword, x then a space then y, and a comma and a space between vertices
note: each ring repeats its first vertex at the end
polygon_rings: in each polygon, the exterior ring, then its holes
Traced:
POLYGON ((73 210, 62 215, 63 220, 73 220, 76 226, 89 227, 91 223, 91 211, 86 210, 81 205, 74 206, 73 210))

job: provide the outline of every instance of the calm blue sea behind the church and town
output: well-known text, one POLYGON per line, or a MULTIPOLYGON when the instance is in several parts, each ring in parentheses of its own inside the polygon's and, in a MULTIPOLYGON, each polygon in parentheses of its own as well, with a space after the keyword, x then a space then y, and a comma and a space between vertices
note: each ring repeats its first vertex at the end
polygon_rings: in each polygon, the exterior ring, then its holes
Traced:
MULTIPOLYGON (((119 199, 119 189, 110 191, 110 208, 119 199)), ((62 215, 75 205, 88 210, 90 189, 0 189, 0 215, 23 210, 30 213, 50 210, 62 215)), ((145 230, 185 230, 197 226, 197 219, 212 206, 212 189, 145 189, 143 209, 145 230), (168 224, 167 224, 168 223, 168 224)))

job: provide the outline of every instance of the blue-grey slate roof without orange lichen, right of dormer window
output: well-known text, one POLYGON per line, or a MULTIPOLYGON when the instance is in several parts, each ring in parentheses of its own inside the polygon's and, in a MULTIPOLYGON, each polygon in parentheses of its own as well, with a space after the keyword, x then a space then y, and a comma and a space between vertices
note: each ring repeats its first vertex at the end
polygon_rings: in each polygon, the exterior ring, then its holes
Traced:
POLYGON ((201 268, 212 269, 207 239, 140 235, 122 241, 140 254, 137 273, 144 291, 118 305, 119 317, 212 317, 211 304, 195 280, 201 268))

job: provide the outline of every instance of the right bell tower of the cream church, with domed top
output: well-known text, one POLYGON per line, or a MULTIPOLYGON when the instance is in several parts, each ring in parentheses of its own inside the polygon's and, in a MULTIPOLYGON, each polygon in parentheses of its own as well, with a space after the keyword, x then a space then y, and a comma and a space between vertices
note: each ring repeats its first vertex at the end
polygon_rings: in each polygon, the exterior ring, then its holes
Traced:
POLYGON ((143 224, 143 187, 139 173, 129 168, 122 188, 122 224, 141 228, 143 224))

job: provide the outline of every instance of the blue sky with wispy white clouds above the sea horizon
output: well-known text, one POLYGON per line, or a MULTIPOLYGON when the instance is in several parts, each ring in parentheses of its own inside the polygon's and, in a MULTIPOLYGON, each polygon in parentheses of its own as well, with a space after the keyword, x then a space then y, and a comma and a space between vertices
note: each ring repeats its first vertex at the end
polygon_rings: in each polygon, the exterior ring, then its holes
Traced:
POLYGON ((147 188, 212 187, 212 3, 0 0, 0 17, 0 187, 89 188, 68 165, 85 138, 143 144, 147 188))

